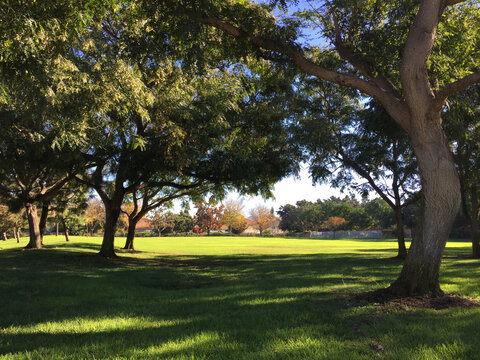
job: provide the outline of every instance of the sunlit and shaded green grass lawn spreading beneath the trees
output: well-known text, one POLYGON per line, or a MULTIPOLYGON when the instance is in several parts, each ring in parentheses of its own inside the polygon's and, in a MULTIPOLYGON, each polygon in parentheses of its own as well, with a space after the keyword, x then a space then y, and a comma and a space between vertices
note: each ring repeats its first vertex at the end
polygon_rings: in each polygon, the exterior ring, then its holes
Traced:
MULTIPOLYGON (((480 308, 353 299, 395 279, 393 240, 138 238, 119 260, 95 256, 99 238, 0 247, 0 359, 480 356, 480 308)), ((447 245, 442 288, 480 298, 469 254, 447 245)))

